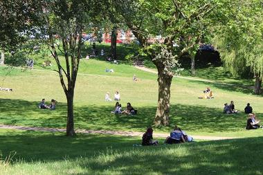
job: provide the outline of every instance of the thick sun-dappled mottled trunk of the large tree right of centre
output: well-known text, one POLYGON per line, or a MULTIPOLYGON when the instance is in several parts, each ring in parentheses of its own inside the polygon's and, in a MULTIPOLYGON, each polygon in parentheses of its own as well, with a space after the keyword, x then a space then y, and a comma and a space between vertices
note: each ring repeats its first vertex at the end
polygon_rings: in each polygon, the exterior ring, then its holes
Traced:
POLYGON ((164 74, 163 68, 158 68, 158 105, 154 118, 155 126, 169 125, 170 86, 172 77, 172 75, 164 74))

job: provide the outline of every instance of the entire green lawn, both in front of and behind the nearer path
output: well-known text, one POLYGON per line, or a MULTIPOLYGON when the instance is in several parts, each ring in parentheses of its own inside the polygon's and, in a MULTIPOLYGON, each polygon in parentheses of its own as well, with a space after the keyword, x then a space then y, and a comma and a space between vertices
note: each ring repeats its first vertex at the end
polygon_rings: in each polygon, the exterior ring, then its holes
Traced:
MULTIPOLYGON (((80 61, 74 98, 75 129, 145 131, 152 125, 158 99, 157 75, 125 62, 123 57, 129 49, 120 56, 122 62, 118 65, 104 62, 102 57, 80 61), (106 73, 106 68, 113 68, 115 72, 106 73), (132 81, 134 74, 140 79, 138 82, 132 81), (120 91, 123 107, 131 102, 138 109, 137 116, 110 113, 115 102, 105 102, 105 93, 109 91, 112 97, 116 90, 120 91)), ((0 124, 65 128, 66 98, 57 73, 39 66, 35 68, 41 71, 17 68, 9 71, 0 66, 0 86, 14 90, 0 91, 0 124), (47 102, 52 98, 57 100, 57 109, 38 109, 42 98, 47 102)), ((49 68, 56 67, 53 64, 49 68)), ((239 139, 132 147, 140 143, 140 137, 79 133, 78 137, 67 138, 64 133, 0 129, 3 154, 0 174, 263 174, 260 166, 263 130, 246 131, 244 113, 222 113, 223 104, 234 100, 240 111, 250 102, 253 111, 262 118, 262 96, 252 95, 251 89, 240 86, 249 86, 251 82, 222 77, 221 68, 200 69, 197 76, 217 83, 174 78, 171 125, 154 128, 154 133, 168 135, 174 125, 179 125, 189 135, 239 139), (206 86, 211 87, 215 99, 198 98, 206 86), (3 159, 12 151, 17 154, 5 163, 3 159)))

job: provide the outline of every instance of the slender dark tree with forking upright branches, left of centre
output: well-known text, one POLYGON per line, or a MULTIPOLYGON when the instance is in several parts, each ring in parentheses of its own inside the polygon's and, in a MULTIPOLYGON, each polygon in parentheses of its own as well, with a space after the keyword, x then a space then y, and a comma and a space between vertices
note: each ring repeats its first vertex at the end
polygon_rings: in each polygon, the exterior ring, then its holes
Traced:
POLYGON ((83 46, 82 32, 91 28, 98 3, 100 1, 93 0, 39 2, 39 20, 35 24, 57 63, 57 73, 66 95, 66 136, 75 136, 73 100, 83 46), (59 54, 64 58, 59 57, 59 54))

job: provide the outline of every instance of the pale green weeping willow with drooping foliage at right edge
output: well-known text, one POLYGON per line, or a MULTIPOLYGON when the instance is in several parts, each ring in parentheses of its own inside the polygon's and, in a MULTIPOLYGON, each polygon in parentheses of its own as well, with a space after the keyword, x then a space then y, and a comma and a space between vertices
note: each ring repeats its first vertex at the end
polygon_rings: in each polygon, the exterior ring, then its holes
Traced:
POLYGON ((221 59, 233 75, 253 73, 255 94, 260 94, 263 75, 263 14, 258 0, 233 1, 227 24, 214 39, 221 59))

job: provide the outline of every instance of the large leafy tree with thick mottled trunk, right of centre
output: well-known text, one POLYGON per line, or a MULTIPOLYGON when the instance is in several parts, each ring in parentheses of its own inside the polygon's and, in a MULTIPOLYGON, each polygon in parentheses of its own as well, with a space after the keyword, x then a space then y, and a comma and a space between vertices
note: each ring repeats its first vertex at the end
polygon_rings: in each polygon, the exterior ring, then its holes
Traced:
POLYGON ((201 39, 206 41, 210 37, 218 18, 223 16, 220 10, 224 3, 219 0, 116 1, 123 21, 158 70, 158 105, 154 124, 169 125, 170 85, 174 69, 179 68, 174 60, 194 52, 201 39), (160 34, 163 42, 148 41, 160 34))

